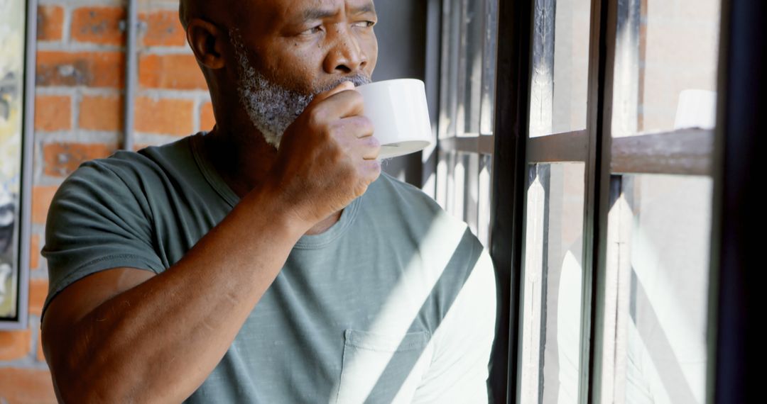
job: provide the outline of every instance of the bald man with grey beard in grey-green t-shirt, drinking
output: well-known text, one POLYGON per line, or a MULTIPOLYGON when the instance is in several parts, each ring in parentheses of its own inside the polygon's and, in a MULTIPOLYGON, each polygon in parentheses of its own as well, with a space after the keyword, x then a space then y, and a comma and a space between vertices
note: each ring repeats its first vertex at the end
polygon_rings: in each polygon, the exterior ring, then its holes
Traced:
POLYGON ((495 279, 380 174, 370 0, 183 1, 216 128, 79 168, 48 217, 64 402, 482 402, 495 279))

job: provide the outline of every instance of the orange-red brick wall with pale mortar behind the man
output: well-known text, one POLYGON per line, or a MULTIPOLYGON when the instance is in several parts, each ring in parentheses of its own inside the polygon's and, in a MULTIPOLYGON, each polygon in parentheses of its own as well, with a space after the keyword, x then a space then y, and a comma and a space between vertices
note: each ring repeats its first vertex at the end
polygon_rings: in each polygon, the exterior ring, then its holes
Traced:
MULTIPOLYGON (((51 197, 81 162, 110 155, 123 125, 125 3, 41 0, 38 8, 29 327, 0 331, 0 403, 55 402, 40 346, 48 272, 40 249, 51 197)), ((211 129, 212 106, 186 46, 178 2, 140 0, 137 148, 211 129)))

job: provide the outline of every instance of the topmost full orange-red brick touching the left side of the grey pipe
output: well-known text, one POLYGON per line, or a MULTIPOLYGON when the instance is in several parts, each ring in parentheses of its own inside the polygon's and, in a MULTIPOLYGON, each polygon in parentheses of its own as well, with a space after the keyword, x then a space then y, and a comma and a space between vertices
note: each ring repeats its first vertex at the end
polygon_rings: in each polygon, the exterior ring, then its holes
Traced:
POLYGON ((72 39, 91 44, 123 44, 125 32, 120 30, 120 20, 123 19, 123 7, 77 8, 72 12, 72 39))

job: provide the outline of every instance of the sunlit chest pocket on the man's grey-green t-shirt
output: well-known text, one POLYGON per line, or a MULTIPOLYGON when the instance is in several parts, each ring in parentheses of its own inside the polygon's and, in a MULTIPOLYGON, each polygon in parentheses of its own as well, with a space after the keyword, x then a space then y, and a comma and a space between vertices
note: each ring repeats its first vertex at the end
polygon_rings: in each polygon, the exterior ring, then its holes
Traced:
POLYGON ((431 361, 430 333, 394 336, 344 331, 337 404, 410 402, 431 361))

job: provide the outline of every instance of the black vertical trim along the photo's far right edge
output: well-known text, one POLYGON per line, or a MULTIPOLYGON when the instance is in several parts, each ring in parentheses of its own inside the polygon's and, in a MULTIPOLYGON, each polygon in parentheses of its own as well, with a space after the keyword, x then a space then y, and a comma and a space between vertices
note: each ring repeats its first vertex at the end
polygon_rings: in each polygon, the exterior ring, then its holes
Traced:
POLYGON ((722 2, 707 402, 764 400, 765 15, 763 1, 722 2))

